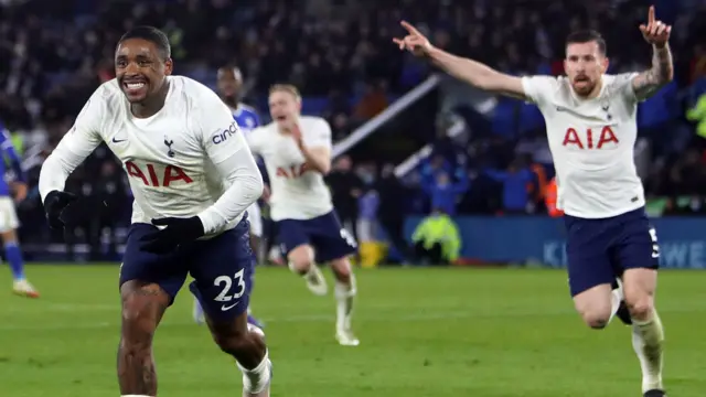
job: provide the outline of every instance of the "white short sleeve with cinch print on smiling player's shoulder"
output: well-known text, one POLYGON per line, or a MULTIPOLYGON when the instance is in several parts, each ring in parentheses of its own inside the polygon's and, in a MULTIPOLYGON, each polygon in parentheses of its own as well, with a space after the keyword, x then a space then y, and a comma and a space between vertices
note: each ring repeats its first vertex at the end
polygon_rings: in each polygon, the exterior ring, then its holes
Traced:
POLYGON ((199 100, 199 124, 203 148, 214 163, 220 163, 239 150, 248 150, 243 131, 231 109, 213 93, 199 100))

